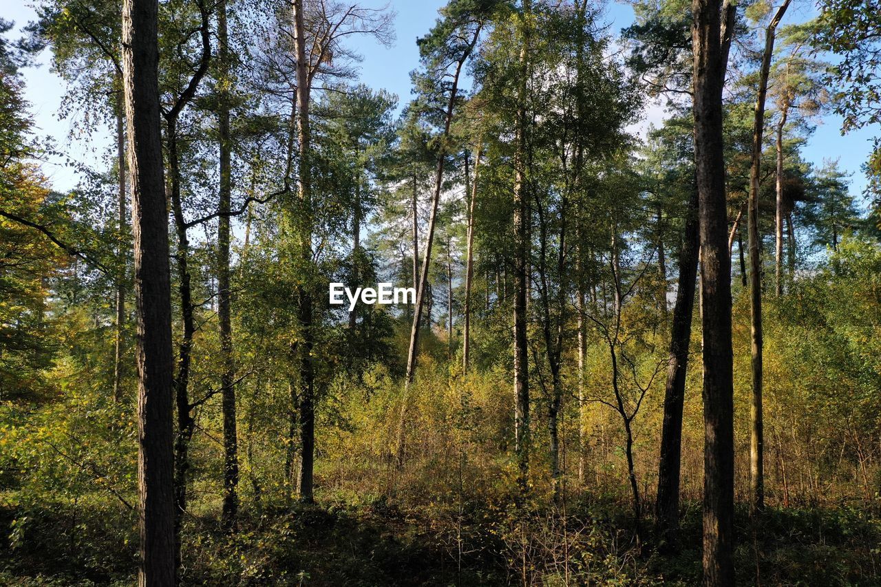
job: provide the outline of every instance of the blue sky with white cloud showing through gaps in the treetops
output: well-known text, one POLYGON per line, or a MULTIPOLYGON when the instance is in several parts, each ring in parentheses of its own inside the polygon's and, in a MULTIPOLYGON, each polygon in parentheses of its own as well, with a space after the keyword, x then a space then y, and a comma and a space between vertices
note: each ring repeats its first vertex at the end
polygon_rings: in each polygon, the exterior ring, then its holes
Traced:
MULTIPOLYGON (((16 24, 7 36, 19 36, 19 28, 36 18, 33 10, 35 4, 38 3, 33 0, 4 0, 0 16, 16 24)), ((363 4, 379 7, 385 3, 365 0, 363 4)), ((443 4, 446 4, 446 0, 391 0, 389 6, 396 11, 394 45, 383 47, 363 38, 352 42, 353 48, 364 57, 360 63, 360 81, 396 93, 399 105, 410 100, 410 72, 418 67, 416 39, 433 26, 437 11, 443 4)), ((810 11, 811 4, 802 4, 801 8, 790 11, 784 24, 805 19, 810 11)), ((609 31, 617 34, 633 21, 633 11, 627 4, 610 3, 605 8, 603 20, 608 23, 609 31)), ((61 120, 58 116, 64 85, 63 80, 51 70, 50 60, 49 49, 46 49, 36 67, 23 71, 25 98, 30 103, 36 127, 34 132, 38 137, 54 139, 58 150, 67 153, 70 159, 100 167, 101 155, 107 152, 111 144, 109 129, 99 130, 90 137, 71 137, 76 118, 61 120)), ((632 130, 643 133, 650 124, 661 123, 663 116, 661 106, 650 104, 643 119, 632 130)), ((836 115, 825 115, 803 147, 803 157, 817 167, 821 167, 824 160, 839 160, 840 168, 851 174, 851 192, 859 195, 866 185, 861 166, 871 152, 872 138, 877 129, 858 130, 842 137, 840 122, 840 117, 836 115)), ((44 160, 43 172, 56 190, 72 189, 78 181, 73 168, 68 167, 61 157, 44 160)))

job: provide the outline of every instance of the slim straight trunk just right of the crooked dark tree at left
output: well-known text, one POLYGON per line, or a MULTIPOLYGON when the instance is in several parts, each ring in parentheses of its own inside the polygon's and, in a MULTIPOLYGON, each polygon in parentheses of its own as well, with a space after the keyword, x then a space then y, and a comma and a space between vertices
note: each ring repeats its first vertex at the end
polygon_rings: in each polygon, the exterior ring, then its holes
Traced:
MULTIPOLYGON (((226 30, 226 0, 218 2, 218 57, 221 76, 229 77, 229 38, 226 30)), ((229 83, 224 79, 224 85, 229 83)), ((229 96, 226 91, 219 97, 218 136, 220 147, 220 185, 218 212, 218 320, 220 323, 220 354, 223 361, 223 374, 220 375, 220 388, 223 407, 223 445, 224 445, 224 496, 223 520, 227 530, 235 524, 239 511, 239 442, 235 421, 235 364, 233 363, 233 327, 230 321, 230 199, 232 197, 231 158, 232 145, 229 130, 229 96)))

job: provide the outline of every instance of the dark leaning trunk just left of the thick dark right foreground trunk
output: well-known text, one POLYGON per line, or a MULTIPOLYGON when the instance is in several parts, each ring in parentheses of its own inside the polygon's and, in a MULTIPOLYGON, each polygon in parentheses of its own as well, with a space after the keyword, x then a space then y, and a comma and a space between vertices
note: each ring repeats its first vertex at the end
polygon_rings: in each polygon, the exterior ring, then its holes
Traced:
POLYGON ((670 362, 663 400, 661 457, 658 466, 657 527, 668 545, 675 545, 679 527, 679 477, 682 459, 682 411, 685 375, 692 339, 694 289, 698 272, 698 194, 692 192, 679 250, 679 286, 670 329, 670 362))

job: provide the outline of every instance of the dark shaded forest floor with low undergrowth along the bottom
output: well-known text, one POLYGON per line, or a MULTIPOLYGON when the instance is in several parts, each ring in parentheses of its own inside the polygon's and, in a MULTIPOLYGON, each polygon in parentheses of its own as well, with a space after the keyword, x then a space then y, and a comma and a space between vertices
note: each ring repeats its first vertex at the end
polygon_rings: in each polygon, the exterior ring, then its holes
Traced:
MULTIPOLYGON (((37 508, 21 521, 8 505, 0 509, 0 584, 134 582, 137 536, 100 508, 81 505, 78 519, 70 509, 37 508)), ((648 531, 636 546, 621 530, 633 527, 625 506, 574 502, 565 532, 548 511, 459 509, 437 519, 385 500, 267 507, 243 513, 229 536, 216 517, 193 516, 181 584, 700 584, 700 504, 685 504, 673 554, 661 554, 648 531)), ((865 510, 767 509, 753 526, 738 509, 736 525, 738 584, 881 585, 881 521, 865 510)))

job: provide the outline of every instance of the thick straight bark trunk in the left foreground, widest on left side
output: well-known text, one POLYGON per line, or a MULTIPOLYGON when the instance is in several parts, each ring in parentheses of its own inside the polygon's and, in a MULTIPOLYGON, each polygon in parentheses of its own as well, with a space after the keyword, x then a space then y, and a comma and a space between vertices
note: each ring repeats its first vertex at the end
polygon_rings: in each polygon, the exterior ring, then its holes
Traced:
POLYGON ((142 587, 174 585, 171 279, 159 130, 156 0, 125 0, 122 62, 137 307, 137 493, 142 587))

